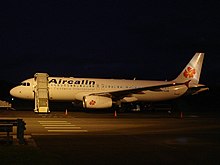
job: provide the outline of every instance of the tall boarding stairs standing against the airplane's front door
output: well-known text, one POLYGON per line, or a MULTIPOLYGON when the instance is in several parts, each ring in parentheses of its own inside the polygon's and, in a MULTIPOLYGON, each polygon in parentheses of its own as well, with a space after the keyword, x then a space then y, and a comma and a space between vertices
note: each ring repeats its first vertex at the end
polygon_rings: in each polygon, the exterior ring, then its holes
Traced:
POLYGON ((34 75, 35 113, 50 113, 48 77, 47 73, 36 73, 34 75))

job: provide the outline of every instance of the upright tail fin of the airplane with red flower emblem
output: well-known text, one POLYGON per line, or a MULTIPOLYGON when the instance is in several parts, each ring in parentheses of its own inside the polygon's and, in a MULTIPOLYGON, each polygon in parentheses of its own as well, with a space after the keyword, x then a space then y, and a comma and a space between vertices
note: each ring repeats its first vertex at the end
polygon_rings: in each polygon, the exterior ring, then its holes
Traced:
POLYGON ((196 53, 174 82, 183 83, 190 81, 190 84, 198 84, 203 59, 204 53, 196 53))

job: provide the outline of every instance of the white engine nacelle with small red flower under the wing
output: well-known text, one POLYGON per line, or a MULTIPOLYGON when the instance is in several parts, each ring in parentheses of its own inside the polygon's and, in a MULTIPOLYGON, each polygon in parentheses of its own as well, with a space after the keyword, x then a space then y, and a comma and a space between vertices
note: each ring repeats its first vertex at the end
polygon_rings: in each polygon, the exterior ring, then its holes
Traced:
POLYGON ((83 97, 84 108, 111 108, 112 99, 104 96, 84 96, 83 97))

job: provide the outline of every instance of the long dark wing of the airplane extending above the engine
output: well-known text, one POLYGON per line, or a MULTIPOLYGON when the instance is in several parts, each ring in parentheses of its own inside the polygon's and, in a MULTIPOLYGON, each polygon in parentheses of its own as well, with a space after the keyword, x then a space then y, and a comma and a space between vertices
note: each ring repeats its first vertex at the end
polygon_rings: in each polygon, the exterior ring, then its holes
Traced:
POLYGON ((101 92, 101 93, 92 93, 90 95, 96 95, 96 96, 106 96, 111 97, 112 99, 119 100, 126 96, 129 96, 131 94, 138 94, 142 91, 161 91, 161 88, 165 87, 173 87, 178 85, 186 85, 187 83, 168 83, 163 85, 155 85, 155 86, 147 86, 147 87, 140 87, 140 88, 133 88, 133 89, 126 89, 126 90, 120 90, 120 91, 111 91, 111 92, 101 92))

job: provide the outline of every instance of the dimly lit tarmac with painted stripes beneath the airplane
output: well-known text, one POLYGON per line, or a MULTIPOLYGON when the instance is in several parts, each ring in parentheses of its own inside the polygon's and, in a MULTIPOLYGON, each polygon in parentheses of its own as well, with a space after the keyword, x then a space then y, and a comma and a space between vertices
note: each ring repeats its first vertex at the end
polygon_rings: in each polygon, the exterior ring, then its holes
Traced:
MULTIPOLYGON (((220 164, 220 114, 0 111, 26 123, 1 164, 220 164)), ((4 134, 1 133, 4 138, 4 134)))

